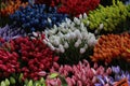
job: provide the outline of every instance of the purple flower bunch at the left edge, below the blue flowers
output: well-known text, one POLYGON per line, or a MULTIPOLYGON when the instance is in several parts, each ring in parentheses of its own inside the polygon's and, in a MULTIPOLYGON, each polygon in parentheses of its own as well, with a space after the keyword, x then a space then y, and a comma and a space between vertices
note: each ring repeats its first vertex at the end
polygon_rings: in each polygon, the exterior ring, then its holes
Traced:
POLYGON ((0 37, 4 39, 4 41, 9 41, 11 39, 15 39, 22 35, 26 35, 25 31, 20 28, 11 28, 11 26, 6 25, 3 28, 0 28, 0 37))

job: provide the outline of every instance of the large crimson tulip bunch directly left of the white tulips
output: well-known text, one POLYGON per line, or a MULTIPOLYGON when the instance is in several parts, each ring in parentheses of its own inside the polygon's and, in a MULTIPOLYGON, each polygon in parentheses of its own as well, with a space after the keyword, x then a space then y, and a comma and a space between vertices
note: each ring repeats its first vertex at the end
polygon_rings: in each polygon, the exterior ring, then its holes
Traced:
POLYGON ((58 57, 43 44, 44 35, 41 37, 37 39, 17 38, 9 42, 10 51, 17 53, 20 56, 21 72, 24 74, 23 80, 27 77, 38 80, 44 75, 43 71, 48 71, 52 63, 58 60, 58 57))

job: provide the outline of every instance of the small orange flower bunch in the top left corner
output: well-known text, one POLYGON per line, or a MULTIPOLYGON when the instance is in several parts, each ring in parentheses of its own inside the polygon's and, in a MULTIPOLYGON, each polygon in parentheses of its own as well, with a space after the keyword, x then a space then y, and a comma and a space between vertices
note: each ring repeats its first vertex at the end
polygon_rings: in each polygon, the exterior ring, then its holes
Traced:
POLYGON ((13 14, 16 10, 18 10, 20 6, 26 6, 28 4, 28 2, 26 3, 22 3, 21 0, 9 0, 8 2, 2 2, 1 5, 3 5, 1 8, 1 15, 2 16, 6 16, 6 15, 10 15, 10 14, 13 14))

